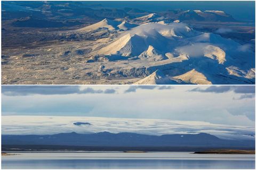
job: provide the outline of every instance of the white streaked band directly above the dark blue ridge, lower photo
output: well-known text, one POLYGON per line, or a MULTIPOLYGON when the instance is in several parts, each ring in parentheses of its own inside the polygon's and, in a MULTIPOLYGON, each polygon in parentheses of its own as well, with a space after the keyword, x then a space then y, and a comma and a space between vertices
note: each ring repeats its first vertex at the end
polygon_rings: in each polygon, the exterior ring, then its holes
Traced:
MULTIPOLYGON (((226 114, 230 118, 229 114, 226 114)), ((244 121, 244 117, 241 121, 244 121)), ((230 121, 233 121, 230 119, 230 121)), ((193 134, 210 133, 223 139, 254 139, 251 126, 212 124, 202 121, 172 121, 163 119, 106 118, 78 116, 2 116, 2 134, 57 134, 57 133, 193 134), (74 125, 75 122, 92 125, 74 125)))

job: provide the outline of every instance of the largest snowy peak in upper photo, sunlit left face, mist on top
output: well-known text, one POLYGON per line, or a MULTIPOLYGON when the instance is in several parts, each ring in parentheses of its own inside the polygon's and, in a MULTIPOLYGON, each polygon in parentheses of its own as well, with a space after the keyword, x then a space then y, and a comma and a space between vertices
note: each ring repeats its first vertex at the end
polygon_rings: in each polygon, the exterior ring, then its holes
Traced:
POLYGON ((101 55, 122 55, 135 56, 148 50, 148 47, 165 52, 170 37, 182 37, 196 34, 183 24, 173 23, 172 25, 162 25, 158 23, 143 24, 126 31, 116 40, 98 51, 101 55), (190 34, 188 32, 191 32, 190 34))

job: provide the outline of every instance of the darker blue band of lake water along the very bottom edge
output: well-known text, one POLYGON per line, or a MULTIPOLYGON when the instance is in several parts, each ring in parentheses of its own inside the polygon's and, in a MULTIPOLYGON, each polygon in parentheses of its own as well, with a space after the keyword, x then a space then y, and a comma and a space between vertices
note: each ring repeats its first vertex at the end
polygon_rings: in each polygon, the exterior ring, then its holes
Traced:
POLYGON ((4 160, 3 169, 254 169, 250 160, 4 160))

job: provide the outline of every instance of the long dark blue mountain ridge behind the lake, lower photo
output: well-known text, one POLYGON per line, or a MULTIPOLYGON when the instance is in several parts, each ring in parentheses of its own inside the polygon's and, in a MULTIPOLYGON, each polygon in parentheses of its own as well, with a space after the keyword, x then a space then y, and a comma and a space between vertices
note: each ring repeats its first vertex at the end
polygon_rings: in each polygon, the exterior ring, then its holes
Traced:
POLYGON ((137 133, 93 134, 59 133, 54 135, 2 135, 2 145, 66 145, 106 147, 254 147, 254 140, 223 140, 207 133, 165 134, 137 133))

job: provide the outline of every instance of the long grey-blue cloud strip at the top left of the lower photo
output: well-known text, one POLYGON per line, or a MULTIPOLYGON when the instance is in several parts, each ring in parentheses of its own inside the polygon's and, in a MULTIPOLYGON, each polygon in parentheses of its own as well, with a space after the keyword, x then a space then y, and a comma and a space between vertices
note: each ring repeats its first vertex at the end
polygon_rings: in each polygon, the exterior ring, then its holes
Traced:
POLYGON ((68 95, 68 94, 115 94, 115 89, 79 89, 79 86, 2 86, 5 96, 68 95))

